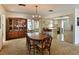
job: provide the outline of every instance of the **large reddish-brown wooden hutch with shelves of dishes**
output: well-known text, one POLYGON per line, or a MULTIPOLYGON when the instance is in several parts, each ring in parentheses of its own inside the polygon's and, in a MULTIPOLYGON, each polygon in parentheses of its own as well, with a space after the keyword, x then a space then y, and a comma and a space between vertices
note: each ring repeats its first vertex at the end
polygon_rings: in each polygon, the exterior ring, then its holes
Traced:
POLYGON ((6 40, 25 37, 27 19, 8 17, 6 20, 6 40))

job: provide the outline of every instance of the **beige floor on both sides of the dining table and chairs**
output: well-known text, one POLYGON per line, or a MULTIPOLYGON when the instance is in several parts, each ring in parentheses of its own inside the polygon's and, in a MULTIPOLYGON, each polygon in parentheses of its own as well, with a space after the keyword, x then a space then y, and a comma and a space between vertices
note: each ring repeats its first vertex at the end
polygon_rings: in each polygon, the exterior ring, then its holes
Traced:
MULTIPOLYGON (((28 55, 26 38, 6 41, 0 55, 28 55)), ((51 55, 79 55, 79 46, 53 39, 51 55)))

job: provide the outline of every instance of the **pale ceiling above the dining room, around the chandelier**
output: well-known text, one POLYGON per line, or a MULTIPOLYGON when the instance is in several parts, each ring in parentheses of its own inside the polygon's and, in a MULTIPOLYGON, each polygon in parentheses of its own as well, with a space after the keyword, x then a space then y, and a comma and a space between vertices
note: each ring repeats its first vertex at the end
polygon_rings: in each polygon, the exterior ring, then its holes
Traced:
MULTIPOLYGON (((26 6, 19 6, 18 4, 3 4, 3 7, 8 12, 25 13, 29 15, 35 14, 36 4, 26 4, 26 6)), ((63 12, 66 10, 72 10, 74 8, 79 8, 78 4, 38 4, 38 13, 41 16, 48 16, 58 12, 63 12), (53 12, 49 12, 53 10, 53 12)))

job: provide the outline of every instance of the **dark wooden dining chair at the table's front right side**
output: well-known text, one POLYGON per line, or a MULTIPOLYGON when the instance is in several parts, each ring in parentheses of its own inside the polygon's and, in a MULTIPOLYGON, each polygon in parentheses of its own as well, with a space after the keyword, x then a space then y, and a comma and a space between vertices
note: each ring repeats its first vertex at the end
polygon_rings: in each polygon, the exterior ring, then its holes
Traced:
POLYGON ((52 37, 51 36, 48 36, 43 41, 41 41, 40 44, 37 45, 37 49, 42 54, 44 54, 44 51, 47 50, 49 52, 49 55, 50 55, 51 42, 52 42, 52 37))

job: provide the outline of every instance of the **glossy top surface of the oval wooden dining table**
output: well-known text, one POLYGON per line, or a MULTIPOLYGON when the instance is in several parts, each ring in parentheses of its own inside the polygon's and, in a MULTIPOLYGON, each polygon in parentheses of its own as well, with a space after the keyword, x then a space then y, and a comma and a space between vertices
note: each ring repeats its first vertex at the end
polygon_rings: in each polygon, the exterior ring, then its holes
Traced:
POLYGON ((47 38, 48 36, 39 32, 33 32, 33 33, 27 33, 28 37, 30 37, 33 40, 44 40, 44 38, 47 38))

